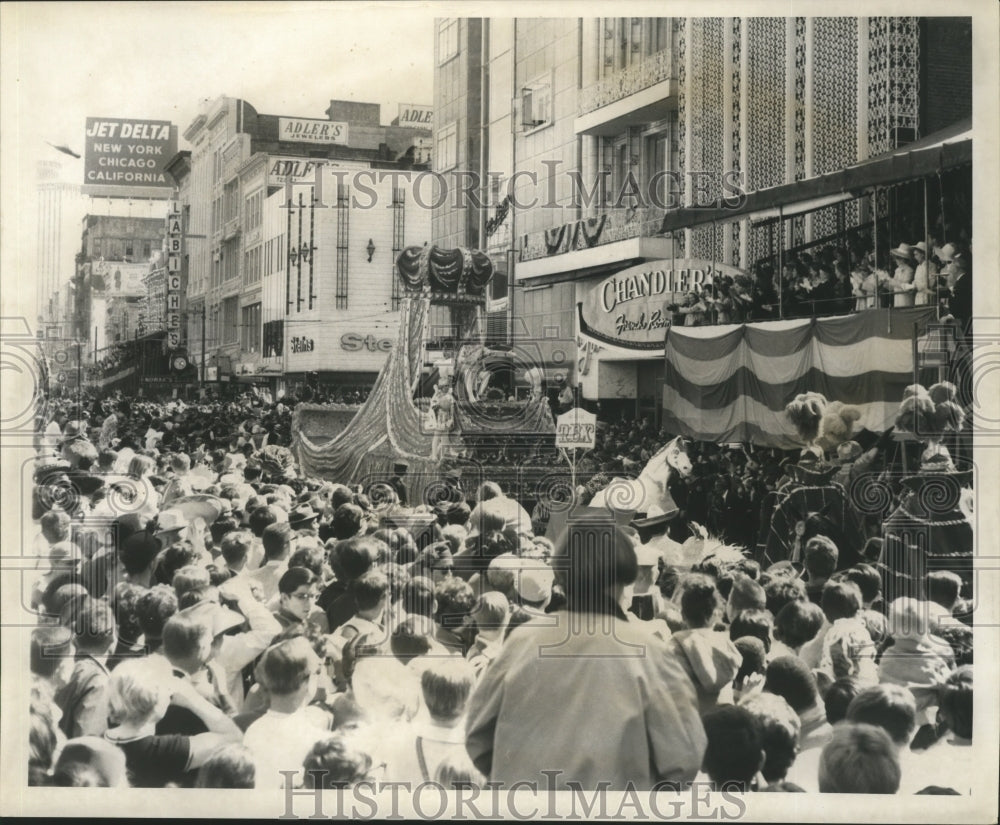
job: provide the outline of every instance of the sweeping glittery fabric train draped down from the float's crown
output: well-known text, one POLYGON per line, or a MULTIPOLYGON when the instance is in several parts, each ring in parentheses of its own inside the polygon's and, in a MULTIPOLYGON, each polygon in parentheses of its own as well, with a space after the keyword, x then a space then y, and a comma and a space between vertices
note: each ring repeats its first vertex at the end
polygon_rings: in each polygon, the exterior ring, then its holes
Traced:
MULTIPOLYGON (((392 465, 409 465, 407 485, 411 503, 422 499, 424 487, 440 473, 431 454, 431 434, 413 403, 412 389, 420 377, 421 343, 430 306, 429 298, 404 300, 399 339, 375 379, 368 400, 335 438, 314 443, 304 432, 303 416, 292 416, 292 449, 302 472, 331 481, 368 485, 385 481, 392 465)), ((302 412, 320 409, 311 405, 302 412)))

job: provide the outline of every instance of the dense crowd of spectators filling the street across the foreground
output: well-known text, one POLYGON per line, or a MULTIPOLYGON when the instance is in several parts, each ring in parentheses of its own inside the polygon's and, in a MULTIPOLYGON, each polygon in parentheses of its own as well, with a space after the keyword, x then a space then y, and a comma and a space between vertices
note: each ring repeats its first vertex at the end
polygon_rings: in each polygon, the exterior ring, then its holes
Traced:
MULTIPOLYGON (((454 472, 409 506, 405 475, 303 477, 293 403, 50 404, 29 784, 970 793, 958 577, 888 601, 822 534, 755 561, 743 522, 778 454, 694 451, 675 498, 728 544, 679 568, 601 511, 546 536, 454 472)), ((611 424, 593 469, 663 437, 611 424)))

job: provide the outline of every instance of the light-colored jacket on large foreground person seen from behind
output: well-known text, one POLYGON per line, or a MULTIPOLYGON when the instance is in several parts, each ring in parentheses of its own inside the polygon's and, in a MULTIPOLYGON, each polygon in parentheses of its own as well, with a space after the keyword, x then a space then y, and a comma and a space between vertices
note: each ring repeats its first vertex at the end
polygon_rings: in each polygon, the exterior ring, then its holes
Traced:
POLYGON ((508 788, 693 780, 705 731, 666 643, 621 612, 551 615, 554 625, 534 619, 511 634, 470 698, 466 748, 476 766, 508 788))

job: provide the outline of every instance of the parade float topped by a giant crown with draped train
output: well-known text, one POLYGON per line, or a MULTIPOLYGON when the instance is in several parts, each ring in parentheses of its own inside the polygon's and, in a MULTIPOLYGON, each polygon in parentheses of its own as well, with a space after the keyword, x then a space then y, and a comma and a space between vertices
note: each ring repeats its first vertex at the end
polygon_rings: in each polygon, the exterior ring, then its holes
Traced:
POLYGON ((433 498, 449 469, 461 470, 467 490, 488 477, 535 498, 539 468, 530 459, 554 443, 555 425, 538 364, 486 340, 492 262, 478 250, 423 246, 403 250, 396 264, 404 288, 396 344, 367 401, 335 436, 316 436, 329 416, 324 406, 297 406, 293 451, 303 472, 368 488, 405 464, 411 505, 433 498), (435 307, 446 308, 457 333, 442 349, 435 307))

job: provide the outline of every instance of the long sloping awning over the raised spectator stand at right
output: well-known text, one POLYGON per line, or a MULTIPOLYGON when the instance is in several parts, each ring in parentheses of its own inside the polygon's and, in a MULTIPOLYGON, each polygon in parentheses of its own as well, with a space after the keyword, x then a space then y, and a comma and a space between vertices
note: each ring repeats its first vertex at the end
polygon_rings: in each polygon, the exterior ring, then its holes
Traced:
POLYGON ((660 231, 666 234, 743 218, 777 218, 779 214, 788 217, 857 197, 876 186, 905 183, 969 163, 972 163, 971 118, 836 172, 750 192, 738 207, 717 202, 705 208, 671 210, 664 215, 660 231))

